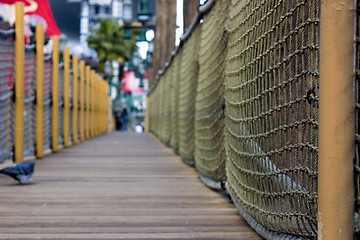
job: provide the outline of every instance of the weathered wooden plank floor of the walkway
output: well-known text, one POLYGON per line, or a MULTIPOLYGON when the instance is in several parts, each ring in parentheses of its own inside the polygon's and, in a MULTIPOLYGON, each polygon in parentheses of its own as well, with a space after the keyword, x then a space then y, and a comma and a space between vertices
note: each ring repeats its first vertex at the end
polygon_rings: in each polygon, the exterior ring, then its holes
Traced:
POLYGON ((261 239, 152 135, 114 132, 0 176, 0 239, 261 239))

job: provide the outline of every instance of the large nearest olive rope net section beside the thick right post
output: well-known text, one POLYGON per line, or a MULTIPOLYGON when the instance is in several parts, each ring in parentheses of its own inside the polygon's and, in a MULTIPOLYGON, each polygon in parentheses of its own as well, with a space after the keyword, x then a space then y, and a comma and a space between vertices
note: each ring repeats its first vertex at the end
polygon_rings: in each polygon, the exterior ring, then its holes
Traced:
POLYGON ((319 1, 232 1, 227 186, 271 232, 315 237, 319 1))

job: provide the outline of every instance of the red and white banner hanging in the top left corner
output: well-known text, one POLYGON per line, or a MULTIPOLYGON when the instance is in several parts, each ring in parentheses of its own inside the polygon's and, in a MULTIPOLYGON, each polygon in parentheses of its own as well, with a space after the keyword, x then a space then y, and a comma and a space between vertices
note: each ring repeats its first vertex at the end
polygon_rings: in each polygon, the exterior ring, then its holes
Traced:
MULTIPOLYGON (((60 36, 48 0, 0 0, 0 16, 11 25, 15 22, 15 2, 24 3, 25 25, 42 23, 48 36, 60 36)), ((27 29, 29 31, 29 29, 27 29)), ((26 33, 25 34, 30 34, 26 33)))

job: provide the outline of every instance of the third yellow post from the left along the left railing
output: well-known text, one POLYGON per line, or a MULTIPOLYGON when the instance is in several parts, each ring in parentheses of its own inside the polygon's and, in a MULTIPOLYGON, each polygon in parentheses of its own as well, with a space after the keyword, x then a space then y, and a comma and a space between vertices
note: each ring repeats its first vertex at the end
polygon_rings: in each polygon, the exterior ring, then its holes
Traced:
POLYGON ((59 116, 59 37, 53 37, 52 52, 52 112, 51 112, 51 149, 58 151, 59 116))

